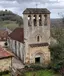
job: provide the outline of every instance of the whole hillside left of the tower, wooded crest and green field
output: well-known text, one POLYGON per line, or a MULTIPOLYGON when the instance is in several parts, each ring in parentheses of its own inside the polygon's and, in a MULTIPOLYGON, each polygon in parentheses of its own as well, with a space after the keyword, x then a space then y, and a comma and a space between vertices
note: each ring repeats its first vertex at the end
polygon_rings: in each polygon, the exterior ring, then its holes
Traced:
POLYGON ((14 14, 11 11, 0 11, 0 28, 9 28, 11 30, 23 25, 21 16, 14 14))

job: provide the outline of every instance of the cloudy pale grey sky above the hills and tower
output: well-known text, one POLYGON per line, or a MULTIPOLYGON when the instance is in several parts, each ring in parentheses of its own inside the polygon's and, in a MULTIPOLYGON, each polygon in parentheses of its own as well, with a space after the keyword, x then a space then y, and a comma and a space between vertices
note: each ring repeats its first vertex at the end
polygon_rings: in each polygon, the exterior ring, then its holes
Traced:
POLYGON ((64 0, 0 0, 0 10, 10 10, 20 16, 26 8, 47 8, 51 18, 60 18, 64 12, 64 0))

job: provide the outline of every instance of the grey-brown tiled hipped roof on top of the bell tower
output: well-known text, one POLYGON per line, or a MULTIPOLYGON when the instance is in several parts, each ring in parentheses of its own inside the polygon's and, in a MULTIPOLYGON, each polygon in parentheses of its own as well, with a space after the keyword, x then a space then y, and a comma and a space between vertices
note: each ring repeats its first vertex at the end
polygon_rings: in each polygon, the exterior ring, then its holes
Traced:
POLYGON ((50 14, 46 8, 26 8, 23 14, 50 14))

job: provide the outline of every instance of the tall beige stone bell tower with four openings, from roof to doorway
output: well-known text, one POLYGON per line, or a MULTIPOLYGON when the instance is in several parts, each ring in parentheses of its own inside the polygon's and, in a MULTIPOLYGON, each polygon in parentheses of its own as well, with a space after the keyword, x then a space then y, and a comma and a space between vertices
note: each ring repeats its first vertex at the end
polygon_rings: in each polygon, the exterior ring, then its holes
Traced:
POLYGON ((46 8, 27 8, 24 20, 24 63, 50 62, 50 11, 46 8))

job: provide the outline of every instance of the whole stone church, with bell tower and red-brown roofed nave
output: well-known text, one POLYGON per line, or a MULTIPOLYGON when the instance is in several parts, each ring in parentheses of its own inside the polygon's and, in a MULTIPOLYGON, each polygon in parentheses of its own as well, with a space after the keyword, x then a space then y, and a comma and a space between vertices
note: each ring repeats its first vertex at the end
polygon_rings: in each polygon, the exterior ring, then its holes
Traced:
POLYGON ((50 62, 50 11, 27 8, 24 28, 16 28, 8 38, 9 48, 26 64, 50 62))

